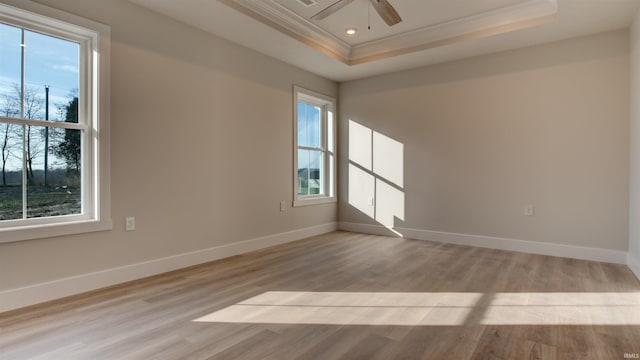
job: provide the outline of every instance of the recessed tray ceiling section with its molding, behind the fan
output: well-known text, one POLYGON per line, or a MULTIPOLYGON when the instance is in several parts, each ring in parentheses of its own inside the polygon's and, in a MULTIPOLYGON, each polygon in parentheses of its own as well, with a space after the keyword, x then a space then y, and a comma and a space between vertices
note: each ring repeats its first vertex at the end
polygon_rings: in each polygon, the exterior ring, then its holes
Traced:
POLYGON ((390 0, 402 21, 389 26, 369 0, 342 0, 345 6, 313 20, 337 0, 219 1, 347 65, 538 25, 558 9, 557 0, 390 0))

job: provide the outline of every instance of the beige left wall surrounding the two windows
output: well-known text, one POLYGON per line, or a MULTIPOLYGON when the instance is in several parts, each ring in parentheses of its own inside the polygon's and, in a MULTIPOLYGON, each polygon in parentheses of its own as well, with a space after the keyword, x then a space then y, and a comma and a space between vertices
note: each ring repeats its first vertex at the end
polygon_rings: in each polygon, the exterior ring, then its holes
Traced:
POLYGON ((290 208, 292 86, 335 82, 124 0, 39 2, 111 25, 114 229, 0 244, 0 290, 336 221, 290 208))

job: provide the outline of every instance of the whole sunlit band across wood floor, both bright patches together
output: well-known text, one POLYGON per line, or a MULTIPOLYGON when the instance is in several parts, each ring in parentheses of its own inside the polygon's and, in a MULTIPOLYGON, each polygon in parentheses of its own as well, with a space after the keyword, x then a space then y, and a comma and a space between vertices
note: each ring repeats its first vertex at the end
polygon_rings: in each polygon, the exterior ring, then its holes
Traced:
POLYGON ((194 321, 371 326, 640 325, 640 294, 269 291, 194 321))

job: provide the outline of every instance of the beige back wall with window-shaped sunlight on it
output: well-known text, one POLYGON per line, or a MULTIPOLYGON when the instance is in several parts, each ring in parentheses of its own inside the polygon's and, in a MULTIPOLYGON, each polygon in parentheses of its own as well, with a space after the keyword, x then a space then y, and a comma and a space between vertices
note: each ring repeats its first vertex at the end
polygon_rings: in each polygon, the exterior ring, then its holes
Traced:
POLYGON ((627 31, 343 83, 340 221, 626 251, 628 89, 627 31), (368 171, 350 165, 350 120, 401 149, 379 156, 401 186, 369 173, 391 187, 381 219, 349 186, 368 171))

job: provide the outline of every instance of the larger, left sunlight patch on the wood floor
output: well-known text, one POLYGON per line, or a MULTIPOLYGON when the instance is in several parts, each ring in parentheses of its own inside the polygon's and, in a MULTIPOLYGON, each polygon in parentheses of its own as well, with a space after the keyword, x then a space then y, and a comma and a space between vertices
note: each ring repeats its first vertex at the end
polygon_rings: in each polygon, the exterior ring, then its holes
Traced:
POLYGON ((482 294, 270 291, 195 321, 326 325, 462 325, 482 294))

